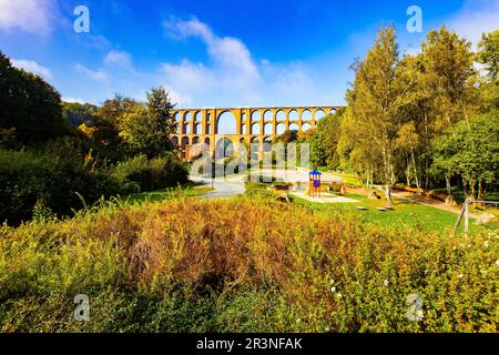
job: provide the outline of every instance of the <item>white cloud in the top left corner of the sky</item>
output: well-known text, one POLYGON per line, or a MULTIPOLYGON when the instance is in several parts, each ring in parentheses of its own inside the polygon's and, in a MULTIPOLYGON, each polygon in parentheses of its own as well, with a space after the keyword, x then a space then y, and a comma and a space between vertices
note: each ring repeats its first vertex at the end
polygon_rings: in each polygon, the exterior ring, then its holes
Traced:
POLYGON ((58 17, 55 0, 0 0, 0 28, 47 34, 58 17))

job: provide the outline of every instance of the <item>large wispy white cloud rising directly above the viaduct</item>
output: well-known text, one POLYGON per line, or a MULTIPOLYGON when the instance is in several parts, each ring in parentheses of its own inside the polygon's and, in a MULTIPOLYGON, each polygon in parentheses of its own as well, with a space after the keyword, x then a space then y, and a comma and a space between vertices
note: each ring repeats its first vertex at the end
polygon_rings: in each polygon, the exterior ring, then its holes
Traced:
MULTIPOLYGON (((327 104, 320 89, 304 63, 256 62, 243 41, 218 37, 208 26, 192 18, 187 21, 170 20, 163 23, 172 40, 201 39, 206 45, 208 63, 163 63, 163 84, 183 106, 195 105, 277 105, 327 104)), ((324 79, 324 75, 323 75, 324 79)), ((330 100, 330 98, 327 98, 330 100)))

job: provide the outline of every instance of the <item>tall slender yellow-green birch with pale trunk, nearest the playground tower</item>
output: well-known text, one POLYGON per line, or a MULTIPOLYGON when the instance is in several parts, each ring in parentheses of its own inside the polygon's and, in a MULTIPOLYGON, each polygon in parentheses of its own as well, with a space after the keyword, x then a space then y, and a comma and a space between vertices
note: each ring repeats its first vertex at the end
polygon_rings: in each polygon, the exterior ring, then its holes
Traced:
MULTIPOLYGON (((398 45, 394 27, 381 28, 374 47, 358 61, 352 93, 347 95, 352 110, 350 130, 356 131, 357 143, 371 153, 379 178, 385 185, 388 204, 393 204, 390 186, 395 183, 394 164, 403 108, 408 103, 409 88, 398 70, 398 45)), ((366 156, 367 158, 367 156, 366 156)))

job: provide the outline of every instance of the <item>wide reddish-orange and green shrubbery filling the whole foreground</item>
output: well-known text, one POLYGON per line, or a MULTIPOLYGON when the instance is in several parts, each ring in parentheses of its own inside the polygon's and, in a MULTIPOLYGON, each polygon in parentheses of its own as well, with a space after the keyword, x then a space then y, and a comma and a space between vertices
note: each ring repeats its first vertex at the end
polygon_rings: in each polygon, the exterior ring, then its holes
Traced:
POLYGON ((0 332, 497 332, 498 254, 497 232, 381 227, 334 207, 110 204, 0 227, 0 332), (77 294, 91 322, 72 320, 77 294))

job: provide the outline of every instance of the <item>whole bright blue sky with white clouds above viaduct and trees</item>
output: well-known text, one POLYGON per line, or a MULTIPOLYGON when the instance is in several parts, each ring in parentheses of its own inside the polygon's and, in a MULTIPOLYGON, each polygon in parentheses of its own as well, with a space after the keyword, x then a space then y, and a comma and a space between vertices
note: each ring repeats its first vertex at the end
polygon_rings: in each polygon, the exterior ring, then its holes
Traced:
POLYGON ((180 108, 334 105, 388 22, 401 51, 441 24, 476 43, 499 28, 499 0, 0 0, 0 50, 68 101, 164 85, 180 108), (422 33, 406 30, 414 4, 422 33), (90 33, 73 30, 78 6, 90 33))

